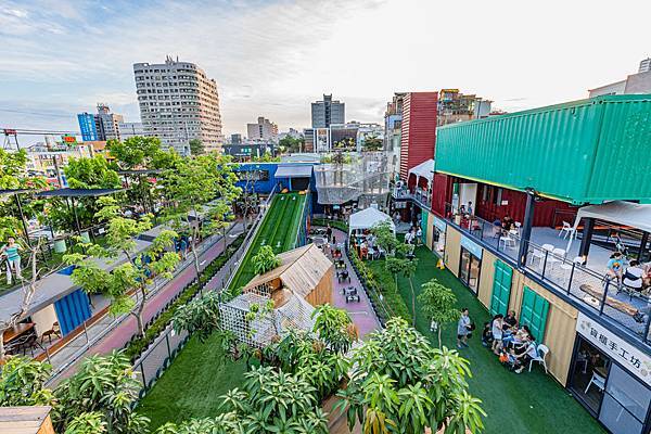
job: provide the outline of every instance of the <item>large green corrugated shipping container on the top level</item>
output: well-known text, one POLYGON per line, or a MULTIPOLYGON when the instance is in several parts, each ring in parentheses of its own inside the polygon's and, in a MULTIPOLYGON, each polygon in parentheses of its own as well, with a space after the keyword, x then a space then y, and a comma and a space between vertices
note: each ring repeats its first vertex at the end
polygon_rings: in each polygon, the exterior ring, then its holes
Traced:
POLYGON ((651 94, 439 127, 435 170, 572 204, 651 203, 651 94))

